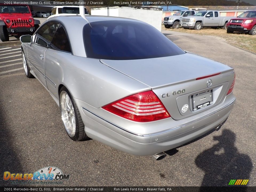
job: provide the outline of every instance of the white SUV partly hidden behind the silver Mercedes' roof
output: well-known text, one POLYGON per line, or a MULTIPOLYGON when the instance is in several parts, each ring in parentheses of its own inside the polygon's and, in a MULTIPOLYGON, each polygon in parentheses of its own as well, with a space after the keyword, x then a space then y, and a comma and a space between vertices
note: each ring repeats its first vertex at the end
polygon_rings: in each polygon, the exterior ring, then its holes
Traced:
MULTIPOLYGON (((51 11, 51 17, 56 17, 59 15, 79 15, 79 6, 55 6, 51 11)), ((89 15, 85 8, 85 15, 89 15)))

